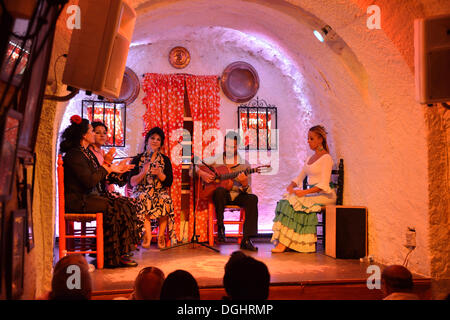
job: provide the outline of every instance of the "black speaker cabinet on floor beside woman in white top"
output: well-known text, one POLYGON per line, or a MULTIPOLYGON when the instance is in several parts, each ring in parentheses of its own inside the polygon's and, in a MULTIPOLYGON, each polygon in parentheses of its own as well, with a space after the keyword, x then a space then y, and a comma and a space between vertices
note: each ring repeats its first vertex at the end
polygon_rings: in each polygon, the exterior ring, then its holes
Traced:
POLYGON ((337 259, 367 255, 367 208, 326 206, 325 254, 337 259))

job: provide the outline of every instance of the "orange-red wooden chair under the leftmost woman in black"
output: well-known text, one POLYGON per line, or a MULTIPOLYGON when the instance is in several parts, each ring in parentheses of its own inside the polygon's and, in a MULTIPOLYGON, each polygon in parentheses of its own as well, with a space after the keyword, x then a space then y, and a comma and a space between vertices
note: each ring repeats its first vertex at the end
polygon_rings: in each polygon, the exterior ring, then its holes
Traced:
POLYGON ((67 213, 64 202, 64 167, 62 156, 58 155, 58 199, 59 199, 59 258, 75 253, 97 255, 97 268, 103 269, 103 214, 67 213), (96 222, 96 227, 86 227, 86 222, 96 222), (81 223, 81 230, 74 230, 74 222, 81 223), (80 239, 81 248, 77 250, 74 240, 80 239), (86 250, 85 239, 96 239, 96 250, 86 250), (66 241, 71 240, 67 246, 66 241))

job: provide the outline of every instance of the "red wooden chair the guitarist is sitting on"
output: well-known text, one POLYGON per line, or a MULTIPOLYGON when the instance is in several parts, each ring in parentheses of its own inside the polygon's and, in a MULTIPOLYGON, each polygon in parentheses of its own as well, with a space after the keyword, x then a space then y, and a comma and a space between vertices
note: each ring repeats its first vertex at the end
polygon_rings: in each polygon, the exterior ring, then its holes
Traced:
MULTIPOLYGON (((226 233, 225 236, 227 237, 236 237, 238 238, 238 243, 241 244, 242 238, 244 236, 244 222, 245 222, 245 209, 239 206, 235 205, 227 205, 225 206, 224 210, 224 217, 225 213, 230 211, 239 211, 239 220, 225 220, 223 221, 223 224, 230 225, 230 224, 237 224, 239 226, 237 233, 226 233)), ((216 219, 216 208, 214 206, 214 203, 212 200, 208 202, 208 238, 209 238, 209 245, 214 246, 214 238, 217 237, 217 219, 216 219)))

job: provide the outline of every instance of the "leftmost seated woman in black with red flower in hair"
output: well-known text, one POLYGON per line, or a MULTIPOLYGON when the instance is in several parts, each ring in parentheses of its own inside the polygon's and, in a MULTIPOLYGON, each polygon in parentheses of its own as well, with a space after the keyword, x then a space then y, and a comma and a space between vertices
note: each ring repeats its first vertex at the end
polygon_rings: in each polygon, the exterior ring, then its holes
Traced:
POLYGON ((110 196, 104 189, 109 174, 122 174, 129 169, 125 163, 113 163, 109 152, 100 164, 88 148, 95 142, 92 125, 79 116, 70 118, 64 130, 60 152, 64 154, 64 196, 67 212, 103 213, 104 260, 106 267, 130 267, 129 259, 140 241, 141 223, 136 208, 127 198, 110 196))

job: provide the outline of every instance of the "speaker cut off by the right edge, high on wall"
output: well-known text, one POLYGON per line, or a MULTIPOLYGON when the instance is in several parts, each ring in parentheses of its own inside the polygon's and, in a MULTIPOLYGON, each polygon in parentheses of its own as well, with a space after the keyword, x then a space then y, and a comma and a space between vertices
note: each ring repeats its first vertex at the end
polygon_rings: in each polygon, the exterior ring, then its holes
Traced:
POLYGON ((416 99, 450 101, 450 15, 414 20, 416 99))

